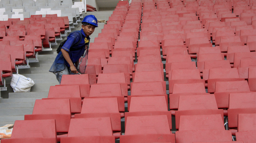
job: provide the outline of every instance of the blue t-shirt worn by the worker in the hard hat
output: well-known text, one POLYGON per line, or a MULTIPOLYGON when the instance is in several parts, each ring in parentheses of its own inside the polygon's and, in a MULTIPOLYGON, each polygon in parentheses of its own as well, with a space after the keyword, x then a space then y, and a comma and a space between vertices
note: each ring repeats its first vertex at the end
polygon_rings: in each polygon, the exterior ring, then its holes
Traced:
MULTIPOLYGON (((63 45, 62 49, 69 52, 69 57, 73 63, 76 63, 80 57, 84 54, 85 50, 89 47, 90 37, 86 38, 83 29, 77 32, 72 32, 67 37, 67 41, 63 45), (80 34, 82 34, 82 39, 80 41, 80 34), (77 44, 80 41, 79 44, 77 44), (75 45, 77 44, 77 45, 75 45), (72 46, 73 45, 73 46, 72 46), (70 50, 72 46, 72 50, 70 50)), ((88 50, 87 50, 88 51, 88 50)), ((57 57, 55 58, 52 67, 50 68, 49 72, 60 72, 64 70, 65 65, 70 67, 69 63, 65 60, 60 51, 57 57)))

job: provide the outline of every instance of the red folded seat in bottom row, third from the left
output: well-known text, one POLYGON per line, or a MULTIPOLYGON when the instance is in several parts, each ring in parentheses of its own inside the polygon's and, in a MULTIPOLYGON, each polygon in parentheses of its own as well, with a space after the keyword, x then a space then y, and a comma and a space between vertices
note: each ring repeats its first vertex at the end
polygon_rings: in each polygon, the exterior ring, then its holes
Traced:
POLYGON ((175 142, 175 136, 170 132, 167 116, 127 117, 125 135, 120 136, 120 143, 134 143, 137 141, 175 142), (142 123, 141 120, 146 122, 142 123), (145 127, 149 129, 145 129, 145 127), (151 128, 154 128, 154 130, 151 128), (161 138, 159 138, 160 135, 161 138))

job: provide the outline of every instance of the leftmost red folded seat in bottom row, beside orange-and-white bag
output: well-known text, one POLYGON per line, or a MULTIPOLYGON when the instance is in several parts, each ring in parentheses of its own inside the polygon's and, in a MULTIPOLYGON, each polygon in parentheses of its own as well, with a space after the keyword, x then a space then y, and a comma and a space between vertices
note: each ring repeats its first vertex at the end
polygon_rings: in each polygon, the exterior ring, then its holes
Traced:
POLYGON ((55 120, 16 120, 10 139, 1 140, 2 143, 56 143, 55 120), (27 134, 33 135, 27 136, 27 134))

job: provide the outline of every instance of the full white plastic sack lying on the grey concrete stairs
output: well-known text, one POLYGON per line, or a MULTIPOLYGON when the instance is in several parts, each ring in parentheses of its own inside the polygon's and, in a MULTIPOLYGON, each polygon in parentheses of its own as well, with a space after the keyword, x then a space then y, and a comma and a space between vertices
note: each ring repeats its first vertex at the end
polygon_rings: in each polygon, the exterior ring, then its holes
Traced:
POLYGON ((33 85, 35 85, 35 83, 31 78, 27 78, 20 74, 12 75, 11 86, 15 93, 30 92, 33 85))

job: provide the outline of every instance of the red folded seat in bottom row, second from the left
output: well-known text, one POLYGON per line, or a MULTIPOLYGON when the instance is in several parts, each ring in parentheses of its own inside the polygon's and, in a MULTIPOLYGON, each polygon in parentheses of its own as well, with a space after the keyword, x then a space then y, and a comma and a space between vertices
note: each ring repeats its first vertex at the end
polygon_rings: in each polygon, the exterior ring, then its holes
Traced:
POLYGON ((86 140, 88 143, 112 143, 113 136, 110 117, 71 119, 67 137, 62 143, 75 143, 86 140), (92 131, 93 130, 93 131, 92 131))

